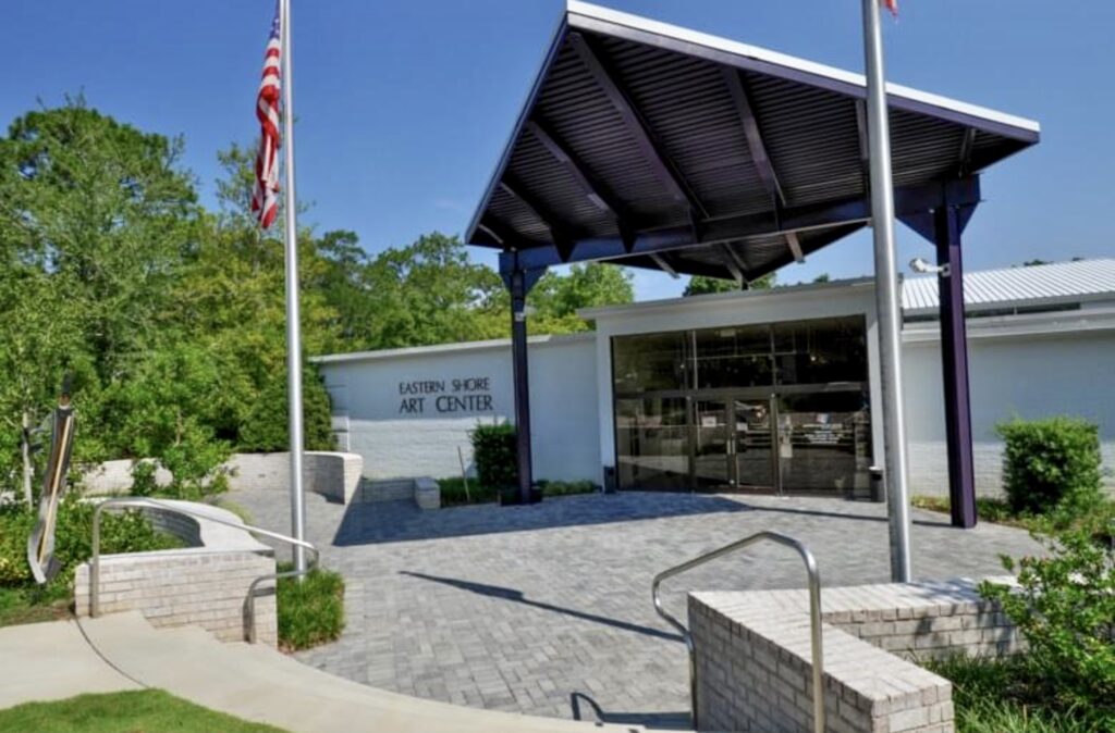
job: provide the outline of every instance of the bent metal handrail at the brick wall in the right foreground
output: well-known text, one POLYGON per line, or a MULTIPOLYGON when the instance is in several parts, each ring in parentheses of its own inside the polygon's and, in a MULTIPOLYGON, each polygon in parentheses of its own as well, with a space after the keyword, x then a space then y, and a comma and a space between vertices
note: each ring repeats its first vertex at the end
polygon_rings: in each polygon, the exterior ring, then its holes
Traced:
POLYGON ((805 563, 805 571, 809 577, 809 634, 813 647, 813 730, 815 733, 824 733, 825 696, 823 687, 824 649, 822 648, 821 638, 821 573, 817 570, 817 561, 813 557, 813 553, 809 551, 808 547, 793 537, 773 531, 757 532, 750 537, 745 537, 744 539, 731 543, 730 545, 725 545, 719 549, 695 557, 694 559, 682 563, 681 565, 676 565, 668 570, 662 570, 655 576, 655 581, 650 586, 650 595, 655 602, 655 610, 658 612, 659 616, 673 626, 673 628, 681 633, 681 637, 686 642, 686 649, 689 652, 689 704, 692 706, 694 729, 698 729, 698 722, 697 656, 694 649, 692 634, 685 624, 662 608, 662 598, 658 592, 659 586, 661 586, 662 580, 667 580, 676 575, 691 570, 697 566, 705 565, 706 563, 710 563, 719 557, 724 557, 725 555, 735 553, 736 550, 744 549, 745 547, 760 541, 772 541, 791 547, 797 550, 797 554, 802 556, 802 560, 805 563))

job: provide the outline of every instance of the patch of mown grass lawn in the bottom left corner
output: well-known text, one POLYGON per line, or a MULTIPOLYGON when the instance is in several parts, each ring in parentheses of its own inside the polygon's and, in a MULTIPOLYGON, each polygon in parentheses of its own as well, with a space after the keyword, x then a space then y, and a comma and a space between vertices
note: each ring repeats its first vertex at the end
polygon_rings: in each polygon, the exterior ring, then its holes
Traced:
POLYGON ((78 695, 0 710, 0 733, 283 733, 194 705, 162 690, 78 695))

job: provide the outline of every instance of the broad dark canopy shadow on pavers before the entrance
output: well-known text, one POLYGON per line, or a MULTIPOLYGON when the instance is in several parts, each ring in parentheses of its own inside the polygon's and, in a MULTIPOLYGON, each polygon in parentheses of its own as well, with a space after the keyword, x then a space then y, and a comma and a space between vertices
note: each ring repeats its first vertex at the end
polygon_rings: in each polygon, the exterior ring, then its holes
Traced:
POLYGON ((333 545, 404 543, 750 509, 718 496, 652 491, 552 497, 529 506, 484 504, 435 511, 423 511, 410 501, 350 504, 333 545))

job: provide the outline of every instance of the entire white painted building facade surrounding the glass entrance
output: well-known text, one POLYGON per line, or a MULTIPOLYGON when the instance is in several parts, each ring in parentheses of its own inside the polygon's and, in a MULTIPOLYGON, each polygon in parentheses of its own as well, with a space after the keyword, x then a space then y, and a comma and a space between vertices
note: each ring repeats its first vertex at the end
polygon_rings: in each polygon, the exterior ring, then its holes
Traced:
MULTIPOLYGON (((530 343, 535 477, 603 480, 615 458, 611 338, 686 329, 862 314, 867 325, 871 401, 881 404, 878 321, 871 281, 594 309, 583 313, 595 333, 534 338, 530 343)), ((1080 416, 1101 426, 1115 489, 1115 306, 969 319, 972 432, 977 489, 1001 490, 1001 442, 995 424, 1014 416, 1080 416)), ((941 356, 937 324, 903 329, 906 434, 913 493, 948 492, 941 356)), ((374 479, 457 476, 457 447, 471 467, 468 431, 477 421, 511 421, 514 413, 508 342, 326 358, 339 448, 363 457, 374 479), (421 414, 400 412, 404 382, 487 378, 492 409, 421 414)), ((435 395, 436 397, 436 395, 435 395)), ((427 395, 427 402, 430 395, 427 395)), ((879 461, 882 423, 872 420, 879 461)))

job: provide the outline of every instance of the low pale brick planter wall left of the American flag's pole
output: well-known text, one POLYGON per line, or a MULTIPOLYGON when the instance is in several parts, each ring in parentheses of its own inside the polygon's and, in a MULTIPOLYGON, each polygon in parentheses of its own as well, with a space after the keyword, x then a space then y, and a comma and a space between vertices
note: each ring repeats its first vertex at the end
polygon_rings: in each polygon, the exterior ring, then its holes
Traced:
MULTIPOLYGON (((167 501, 191 511, 243 524, 224 509, 192 501, 167 501)), ((144 507, 157 528, 190 547, 100 556, 100 610, 138 610, 153 626, 201 626, 224 642, 248 635, 248 590, 260 576, 275 571, 274 551, 246 529, 144 507)), ((90 610, 89 564, 74 579, 78 616, 90 610)), ((274 581, 256 588, 255 628, 260 643, 278 643, 274 581)))

